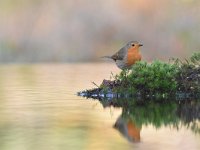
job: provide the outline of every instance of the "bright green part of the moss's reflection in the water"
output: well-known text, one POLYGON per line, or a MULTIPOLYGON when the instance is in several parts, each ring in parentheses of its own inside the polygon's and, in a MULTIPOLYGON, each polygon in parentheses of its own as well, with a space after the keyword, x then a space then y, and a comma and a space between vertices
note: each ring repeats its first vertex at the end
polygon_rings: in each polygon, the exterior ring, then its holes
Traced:
POLYGON ((123 108, 122 116, 131 118, 137 126, 152 124, 156 128, 160 128, 162 125, 177 127, 176 109, 177 105, 172 102, 167 104, 149 103, 143 106, 135 105, 133 109, 123 108))

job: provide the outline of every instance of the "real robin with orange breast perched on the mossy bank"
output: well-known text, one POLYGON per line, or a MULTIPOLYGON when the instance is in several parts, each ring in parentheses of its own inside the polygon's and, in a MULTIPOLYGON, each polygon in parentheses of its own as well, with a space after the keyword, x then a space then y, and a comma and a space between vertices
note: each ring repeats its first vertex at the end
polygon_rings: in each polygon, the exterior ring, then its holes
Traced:
POLYGON ((120 69, 130 69, 133 64, 140 61, 142 58, 139 51, 140 46, 142 46, 142 44, 136 41, 130 41, 114 55, 104 56, 103 58, 113 59, 120 69))

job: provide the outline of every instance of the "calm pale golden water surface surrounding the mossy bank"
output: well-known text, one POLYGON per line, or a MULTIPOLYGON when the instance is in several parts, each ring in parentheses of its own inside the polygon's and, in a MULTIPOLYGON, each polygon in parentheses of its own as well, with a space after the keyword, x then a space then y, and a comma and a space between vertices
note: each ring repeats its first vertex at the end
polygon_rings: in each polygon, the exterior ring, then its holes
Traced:
POLYGON ((200 135, 185 126, 132 122, 130 142, 114 128, 124 123, 121 108, 76 96, 93 88, 92 81, 109 79, 111 71, 120 70, 113 64, 1 65, 0 149, 200 149, 200 135))

